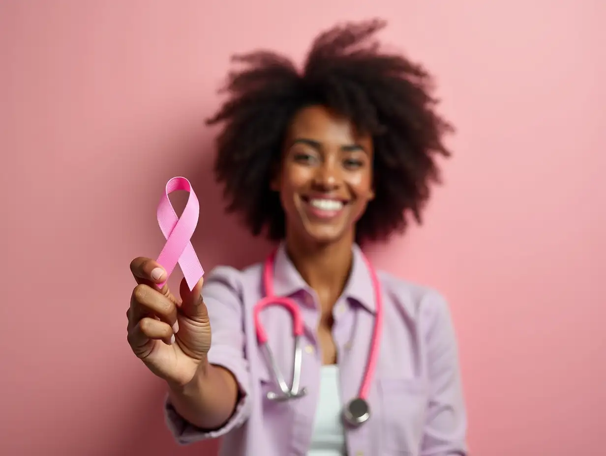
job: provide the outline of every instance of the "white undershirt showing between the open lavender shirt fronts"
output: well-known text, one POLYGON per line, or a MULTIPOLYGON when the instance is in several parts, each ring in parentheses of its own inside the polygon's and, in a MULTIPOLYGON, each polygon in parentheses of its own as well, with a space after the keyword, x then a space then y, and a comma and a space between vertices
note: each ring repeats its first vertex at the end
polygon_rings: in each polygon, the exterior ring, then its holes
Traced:
POLYGON ((320 375, 318 408, 307 456, 343 456, 345 434, 341 422, 339 368, 336 365, 322 366, 320 375))

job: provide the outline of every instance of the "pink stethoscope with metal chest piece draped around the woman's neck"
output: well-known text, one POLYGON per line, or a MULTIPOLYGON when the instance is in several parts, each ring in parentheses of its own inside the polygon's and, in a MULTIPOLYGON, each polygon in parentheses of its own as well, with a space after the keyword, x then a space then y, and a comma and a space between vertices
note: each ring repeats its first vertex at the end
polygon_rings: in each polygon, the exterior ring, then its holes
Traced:
MULTIPOLYGON (((267 362, 271 367, 273 376, 280 389, 279 392, 270 391, 267 393, 269 400, 290 400, 298 397, 303 397, 307 394, 305 387, 301 388, 301 363, 302 363, 302 347, 301 339, 303 335, 303 320, 301 319, 301 311, 297 303, 287 297, 274 296, 273 294, 273 268, 275 263, 276 252, 270 254, 265 260, 263 266, 263 286, 265 289, 265 297, 256 303, 254 308, 255 317, 255 329, 257 333, 257 342, 264 351, 267 362), (295 357, 293 361, 293 382, 290 388, 286 383, 284 375, 278 368, 276 360, 271 352, 271 349, 267 343, 267 332, 261 324, 259 314, 267 306, 282 306, 287 309, 293 319, 293 335, 295 336, 295 357)), ((359 426, 370 417, 370 405, 368 404, 368 390, 372 382, 373 374, 375 372, 377 357, 379 354, 379 342, 381 340, 381 323, 382 323, 382 296, 381 296, 381 285, 376 275, 375 269, 370 265, 368 259, 362 255, 362 259, 366 263, 368 271, 370 272, 370 278, 375 291, 375 328, 373 329, 373 336, 370 340, 370 349, 368 351, 368 359, 366 362, 366 370, 364 371, 364 377, 362 377, 362 383, 358 391, 358 396, 348 401, 343 409, 343 418, 351 426, 359 426)))

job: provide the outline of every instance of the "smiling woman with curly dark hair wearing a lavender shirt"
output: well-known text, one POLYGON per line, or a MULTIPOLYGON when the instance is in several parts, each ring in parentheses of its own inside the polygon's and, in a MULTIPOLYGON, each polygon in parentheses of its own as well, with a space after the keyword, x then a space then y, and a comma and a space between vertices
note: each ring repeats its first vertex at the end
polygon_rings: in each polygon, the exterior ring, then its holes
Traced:
MULTIPOLYGON (((448 156, 450 126, 434 111, 430 78, 379 52, 373 35, 383 26, 322 33, 302 73, 273 53, 237 58, 248 66, 230 73, 230 97, 208 121, 224 125, 215 171, 228 209, 278 242, 273 261, 218 267, 204 288, 183 282, 180 298, 155 285, 165 271, 154 260, 131 264, 128 341, 167 381, 168 426, 182 444, 224 436, 230 456, 467 454, 444 299, 385 273, 373 282, 358 247, 404 231, 409 214, 420 222, 435 158, 448 156), (272 292, 295 301, 304 326, 305 394, 288 400, 271 397, 280 389, 256 339, 253 306, 272 292), (370 418, 352 425, 342 417, 367 371, 370 418)), ((268 307, 259 323, 279 371, 292 372, 290 314, 268 307)))

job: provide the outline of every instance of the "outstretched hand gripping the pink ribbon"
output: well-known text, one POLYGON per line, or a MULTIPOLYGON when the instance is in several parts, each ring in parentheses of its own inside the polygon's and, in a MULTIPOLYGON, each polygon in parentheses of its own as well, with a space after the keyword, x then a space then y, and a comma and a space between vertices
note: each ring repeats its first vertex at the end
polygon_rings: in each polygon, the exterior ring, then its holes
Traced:
POLYGON ((138 285, 126 312, 128 343, 158 377, 187 385, 210 349, 210 322, 201 295, 204 280, 190 291, 183 279, 177 298, 168 285, 156 285, 166 279, 166 272, 154 260, 138 257, 130 270, 138 285))

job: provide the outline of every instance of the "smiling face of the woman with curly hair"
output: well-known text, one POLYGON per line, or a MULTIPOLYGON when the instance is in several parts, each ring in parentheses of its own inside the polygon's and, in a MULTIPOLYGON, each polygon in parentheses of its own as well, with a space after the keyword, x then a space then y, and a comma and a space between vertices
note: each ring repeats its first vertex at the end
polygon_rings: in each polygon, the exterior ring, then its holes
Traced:
POLYGON ((348 119, 321 106, 299 111, 271 182, 286 213, 287 237, 316 243, 354 239, 373 191, 373 144, 348 119))

